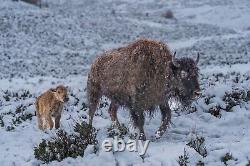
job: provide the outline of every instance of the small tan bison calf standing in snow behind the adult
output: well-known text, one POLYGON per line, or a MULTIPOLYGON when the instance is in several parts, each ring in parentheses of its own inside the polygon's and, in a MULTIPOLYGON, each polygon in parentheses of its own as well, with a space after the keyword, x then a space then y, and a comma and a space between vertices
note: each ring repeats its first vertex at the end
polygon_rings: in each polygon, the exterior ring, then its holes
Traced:
POLYGON ((60 127, 63 103, 68 99, 67 88, 62 85, 49 89, 37 98, 35 106, 39 129, 52 129, 54 126, 52 117, 55 118, 55 128, 60 127))

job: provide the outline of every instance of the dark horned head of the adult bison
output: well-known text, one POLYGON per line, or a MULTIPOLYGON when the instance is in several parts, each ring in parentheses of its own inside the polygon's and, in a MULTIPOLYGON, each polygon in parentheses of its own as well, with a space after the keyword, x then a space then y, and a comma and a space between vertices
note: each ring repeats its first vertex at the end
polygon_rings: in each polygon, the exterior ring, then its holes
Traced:
POLYGON ((196 60, 191 58, 176 59, 172 56, 171 69, 174 78, 174 94, 182 105, 188 106, 192 101, 200 96, 200 86, 198 82, 199 54, 196 60))

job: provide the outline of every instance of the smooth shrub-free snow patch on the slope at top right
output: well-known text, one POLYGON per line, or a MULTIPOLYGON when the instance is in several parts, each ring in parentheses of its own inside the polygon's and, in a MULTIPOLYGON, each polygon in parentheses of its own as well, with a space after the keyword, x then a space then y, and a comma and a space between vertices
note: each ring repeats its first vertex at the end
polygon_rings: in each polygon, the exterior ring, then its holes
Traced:
POLYGON ((220 27, 230 27, 236 31, 249 30, 249 2, 231 1, 227 5, 202 5, 195 8, 181 9, 179 17, 194 23, 213 24, 220 27), (225 14, 226 13, 226 14, 225 14))

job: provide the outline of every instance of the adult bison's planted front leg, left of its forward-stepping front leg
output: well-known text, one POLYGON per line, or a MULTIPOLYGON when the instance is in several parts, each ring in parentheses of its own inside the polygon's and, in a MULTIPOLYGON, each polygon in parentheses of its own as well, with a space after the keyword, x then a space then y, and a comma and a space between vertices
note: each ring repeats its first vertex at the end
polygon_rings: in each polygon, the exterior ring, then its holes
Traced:
POLYGON ((131 118, 134 122, 134 126, 138 127, 139 129, 139 140, 146 140, 146 136, 144 134, 144 122, 145 122, 145 117, 143 114, 143 110, 131 110, 131 118))

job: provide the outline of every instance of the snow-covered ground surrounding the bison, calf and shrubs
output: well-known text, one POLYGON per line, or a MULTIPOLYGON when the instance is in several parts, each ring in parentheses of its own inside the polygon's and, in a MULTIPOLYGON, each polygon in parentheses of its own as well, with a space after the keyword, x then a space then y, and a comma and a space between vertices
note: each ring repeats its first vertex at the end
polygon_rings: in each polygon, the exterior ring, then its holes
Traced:
MULTIPOLYGON (((149 144, 144 159, 136 152, 100 149, 97 154, 89 150, 84 157, 49 165, 175 166, 184 148, 189 154, 188 165, 199 160, 205 165, 224 165, 221 157, 226 153, 234 157, 228 165, 250 164, 250 93, 249 100, 240 100, 230 112, 221 111, 220 118, 209 113, 213 106, 226 105, 225 94, 250 92, 249 0, 45 2, 49 7, 40 9, 20 1, 0 1, 1 166, 41 164, 35 159, 33 148, 56 132, 38 130, 35 116, 13 126, 17 108, 24 107, 25 113, 34 115, 32 104, 38 95, 58 84, 68 85, 70 101, 61 122, 63 129, 72 131, 75 120, 87 117, 82 103, 86 101, 87 73, 96 55, 138 37, 165 41, 177 51, 177 57, 196 57, 197 52, 201 53, 203 97, 195 102, 197 111, 173 111, 173 124, 161 139, 149 144), (169 9, 174 19, 162 16, 169 9), (211 99, 207 102, 207 98, 211 99), (196 135, 205 138, 208 154, 204 158, 186 145, 196 135)), ((111 123, 106 109, 98 110, 94 118, 94 126, 100 129, 99 143, 107 137, 111 123)), ((121 108, 119 119, 130 126, 128 111, 121 108)), ((159 113, 152 119, 147 117, 148 138, 159 124, 159 113)))

